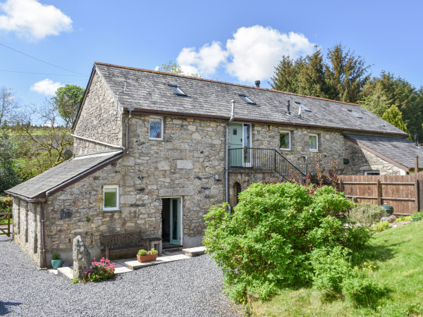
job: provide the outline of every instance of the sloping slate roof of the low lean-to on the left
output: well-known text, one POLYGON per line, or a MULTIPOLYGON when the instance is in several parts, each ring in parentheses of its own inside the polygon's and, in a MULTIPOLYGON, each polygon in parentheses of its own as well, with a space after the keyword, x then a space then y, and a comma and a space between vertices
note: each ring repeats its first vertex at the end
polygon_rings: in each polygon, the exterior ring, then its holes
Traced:
POLYGON ((113 151, 75 157, 46 170, 44 173, 35 176, 35 178, 6 190, 6 192, 12 196, 19 195, 29 199, 41 197, 49 189, 53 189, 121 153, 122 151, 113 151))

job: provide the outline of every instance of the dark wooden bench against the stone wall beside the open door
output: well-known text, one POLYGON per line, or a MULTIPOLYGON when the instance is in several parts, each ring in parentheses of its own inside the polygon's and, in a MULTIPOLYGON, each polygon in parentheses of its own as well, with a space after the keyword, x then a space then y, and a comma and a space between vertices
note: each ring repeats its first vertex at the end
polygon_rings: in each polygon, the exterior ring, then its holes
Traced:
POLYGON ((110 259, 112 254, 132 254, 140 249, 148 249, 147 240, 142 238, 141 230, 124 233, 100 234, 100 257, 110 259))

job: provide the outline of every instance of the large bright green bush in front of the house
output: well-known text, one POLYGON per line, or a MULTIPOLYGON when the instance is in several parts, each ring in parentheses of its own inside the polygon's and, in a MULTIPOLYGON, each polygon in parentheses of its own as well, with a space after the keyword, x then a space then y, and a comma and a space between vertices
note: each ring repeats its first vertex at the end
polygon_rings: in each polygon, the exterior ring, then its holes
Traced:
POLYGON ((253 184, 239 194, 232 215, 226 204, 209 210, 203 243, 232 299, 244 302, 247 293, 266 299, 283 285, 314 279, 314 249, 348 252, 369 240, 368 230, 346 228, 336 218, 352 205, 333 187, 253 184))

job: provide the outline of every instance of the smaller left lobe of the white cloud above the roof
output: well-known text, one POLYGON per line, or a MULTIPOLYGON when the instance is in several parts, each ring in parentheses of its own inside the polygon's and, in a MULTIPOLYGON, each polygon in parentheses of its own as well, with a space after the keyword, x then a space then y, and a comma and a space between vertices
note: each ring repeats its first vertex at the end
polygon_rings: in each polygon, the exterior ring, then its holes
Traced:
POLYGON ((228 52, 223 50, 219 42, 205 44, 198 52, 195 47, 185 47, 180 51, 176 62, 186 74, 212 75, 216 68, 226 61, 228 52))

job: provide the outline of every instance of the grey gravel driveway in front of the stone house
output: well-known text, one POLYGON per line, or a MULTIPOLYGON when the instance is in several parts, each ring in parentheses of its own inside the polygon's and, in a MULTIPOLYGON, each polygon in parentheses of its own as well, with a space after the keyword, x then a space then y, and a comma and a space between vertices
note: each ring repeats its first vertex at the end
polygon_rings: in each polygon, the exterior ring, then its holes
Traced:
POLYGON ((242 316, 208 255, 72 284, 0 236, 0 316, 242 316))

